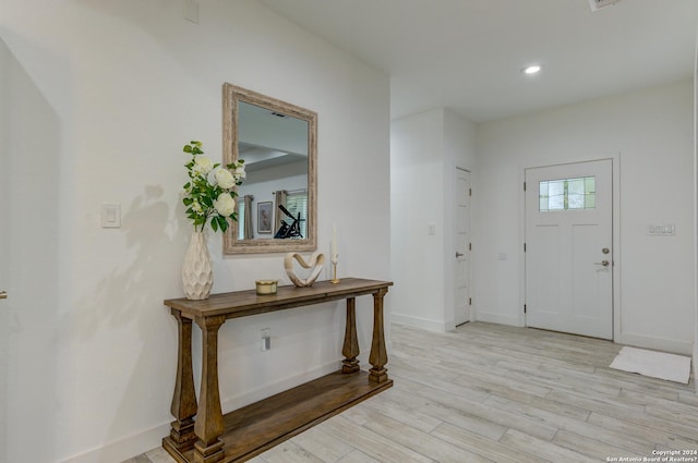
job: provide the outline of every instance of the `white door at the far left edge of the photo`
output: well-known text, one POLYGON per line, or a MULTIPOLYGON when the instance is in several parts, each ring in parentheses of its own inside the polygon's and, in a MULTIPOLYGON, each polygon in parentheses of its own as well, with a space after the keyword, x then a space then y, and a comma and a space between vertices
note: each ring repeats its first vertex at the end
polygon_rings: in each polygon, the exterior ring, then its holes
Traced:
POLYGON ((62 432, 60 146, 59 115, 0 38, 0 463, 55 462, 62 432))

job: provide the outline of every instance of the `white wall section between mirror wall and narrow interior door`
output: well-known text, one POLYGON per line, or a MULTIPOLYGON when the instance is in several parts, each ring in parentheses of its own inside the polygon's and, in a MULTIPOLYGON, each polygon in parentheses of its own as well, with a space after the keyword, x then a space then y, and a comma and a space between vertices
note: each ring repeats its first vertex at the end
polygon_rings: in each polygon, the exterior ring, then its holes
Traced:
POLYGON ((474 165, 474 125, 444 109, 390 124, 393 321, 454 328, 453 174, 474 165), (435 226, 435 234, 428 233, 435 226))

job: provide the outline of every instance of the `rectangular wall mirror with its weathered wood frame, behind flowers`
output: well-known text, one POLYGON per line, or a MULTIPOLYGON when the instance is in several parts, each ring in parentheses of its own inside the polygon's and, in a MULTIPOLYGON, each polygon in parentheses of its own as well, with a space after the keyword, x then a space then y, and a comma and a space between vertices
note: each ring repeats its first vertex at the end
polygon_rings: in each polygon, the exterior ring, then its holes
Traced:
POLYGON ((315 251, 317 114, 224 85, 224 162, 244 159, 225 254, 315 251))

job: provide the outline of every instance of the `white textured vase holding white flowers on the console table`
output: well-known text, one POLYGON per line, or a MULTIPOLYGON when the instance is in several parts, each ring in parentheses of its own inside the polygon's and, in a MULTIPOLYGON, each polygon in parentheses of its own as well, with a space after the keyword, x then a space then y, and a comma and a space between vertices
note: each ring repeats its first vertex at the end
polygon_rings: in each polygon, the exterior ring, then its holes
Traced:
POLYGON ((206 246, 206 236, 203 232, 195 231, 192 233, 184 255, 184 265, 182 265, 184 295, 193 301, 208 298, 213 284, 214 269, 210 265, 208 246, 206 246))

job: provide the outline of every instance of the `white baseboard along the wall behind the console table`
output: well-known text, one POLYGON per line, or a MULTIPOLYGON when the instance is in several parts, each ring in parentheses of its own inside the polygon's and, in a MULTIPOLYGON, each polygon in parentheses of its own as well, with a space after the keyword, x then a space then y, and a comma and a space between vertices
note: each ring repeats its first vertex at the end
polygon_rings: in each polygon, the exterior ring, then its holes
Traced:
MULTIPOLYGON (((341 361, 329 362, 300 375, 289 376, 270 385, 263 386, 252 391, 245 391, 232 398, 221 400, 224 413, 240 409, 250 403, 257 402, 267 397, 282 392, 287 389, 302 385, 324 375, 329 375, 340 368, 341 361)), ((170 434, 170 423, 164 423, 151 429, 135 434, 123 439, 105 443, 93 450, 71 456, 61 463, 119 463, 133 456, 145 453, 163 444, 163 438, 170 434)))

